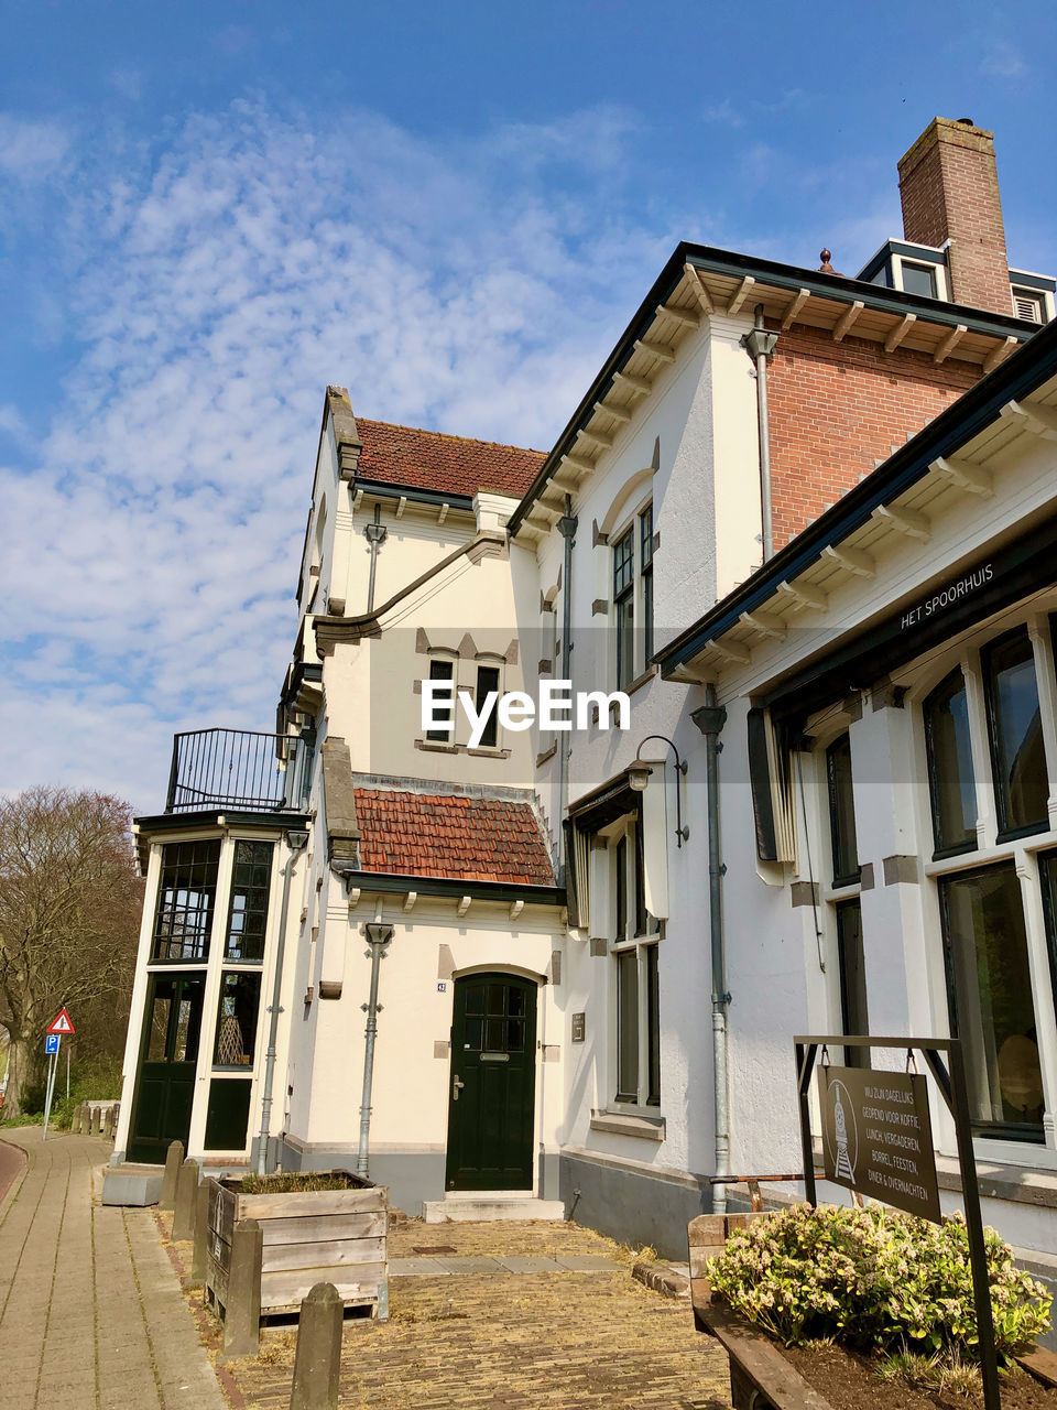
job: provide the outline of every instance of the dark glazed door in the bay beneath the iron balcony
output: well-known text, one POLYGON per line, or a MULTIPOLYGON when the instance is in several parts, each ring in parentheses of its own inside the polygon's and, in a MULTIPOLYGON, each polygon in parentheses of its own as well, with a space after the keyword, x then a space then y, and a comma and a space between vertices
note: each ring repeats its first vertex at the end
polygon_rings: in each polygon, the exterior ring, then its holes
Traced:
POLYGON ((202 973, 151 976, 130 1160, 163 1165, 171 1141, 187 1145, 204 991, 202 973))

